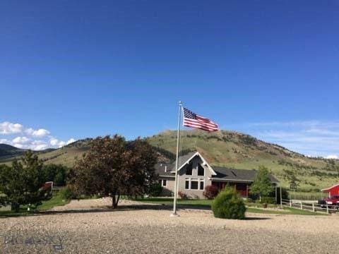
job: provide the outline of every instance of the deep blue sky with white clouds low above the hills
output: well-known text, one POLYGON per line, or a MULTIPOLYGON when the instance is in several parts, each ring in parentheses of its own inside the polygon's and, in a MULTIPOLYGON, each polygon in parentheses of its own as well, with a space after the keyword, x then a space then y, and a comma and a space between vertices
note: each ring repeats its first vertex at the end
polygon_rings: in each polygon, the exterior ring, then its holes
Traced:
POLYGON ((153 135, 176 128, 181 99, 223 129, 339 156, 338 13, 338 1, 1 1, 0 141, 153 135))

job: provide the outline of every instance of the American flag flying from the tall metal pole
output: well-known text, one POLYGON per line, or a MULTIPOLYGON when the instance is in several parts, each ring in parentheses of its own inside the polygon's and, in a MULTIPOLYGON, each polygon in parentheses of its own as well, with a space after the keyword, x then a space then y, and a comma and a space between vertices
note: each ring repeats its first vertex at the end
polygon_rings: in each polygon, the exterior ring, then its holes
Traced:
POLYGON ((203 131, 218 131, 218 124, 213 123, 210 119, 198 116, 189 109, 184 109, 184 126, 199 128, 203 131))

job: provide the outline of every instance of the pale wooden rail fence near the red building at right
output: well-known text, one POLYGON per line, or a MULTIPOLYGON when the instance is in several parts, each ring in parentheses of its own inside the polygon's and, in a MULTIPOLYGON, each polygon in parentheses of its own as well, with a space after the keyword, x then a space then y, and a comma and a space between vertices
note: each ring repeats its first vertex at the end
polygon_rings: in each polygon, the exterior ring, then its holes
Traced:
POLYGON ((311 212, 326 212, 326 213, 337 213, 339 207, 337 205, 323 204, 319 205, 317 201, 305 202, 304 200, 281 200, 282 205, 287 207, 293 207, 300 210, 309 210, 311 212))

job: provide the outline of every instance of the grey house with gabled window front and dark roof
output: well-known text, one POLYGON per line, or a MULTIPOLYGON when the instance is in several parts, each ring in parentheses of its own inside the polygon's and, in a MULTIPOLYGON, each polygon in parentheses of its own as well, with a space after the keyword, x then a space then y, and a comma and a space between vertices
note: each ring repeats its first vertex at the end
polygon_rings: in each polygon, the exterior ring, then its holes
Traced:
MULTIPOLYGON (((162 195, 173 195, 175 162, 156 164, 155 170, 163 187, 162 195)), ((205 186, 213 185, 222 189, 227 184, 243 197, 248 197, 249 186, 255 177, 256 170, 212 167, 199 152, 190 152, 179 157, 178 191, 185 193, 190 198, 204 198, 205 186)), ((278 180, 274 176, 269 175, 269 178, 273 186, 278 184, 278 180)))

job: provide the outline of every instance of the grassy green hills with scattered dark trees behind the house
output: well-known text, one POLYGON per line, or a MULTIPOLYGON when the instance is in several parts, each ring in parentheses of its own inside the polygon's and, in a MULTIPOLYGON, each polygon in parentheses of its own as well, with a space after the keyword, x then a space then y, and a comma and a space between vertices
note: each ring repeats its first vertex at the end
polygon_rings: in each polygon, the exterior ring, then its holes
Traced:
MULTIPOLYGON (((75 162, 74 158, 81 157, 84 152, 88 151, 91 140, 91 138, 78 140, 57 150, 39 152, 39 157, 45 163, 72 167, 75 162)), ((176 131, 163 131, 145 140, 155 147, 160 161, 174 160, 177 147, 176 131)), ((8 148, 9 150, 4 149, 4 152, 13 151, 13 148, 8 148)), ((15 150, 18 149, 15 148, 15 150)), ((297 178, 299 188, 307 190, 316 190, 339 183, 338 160, 309 158, 280 145, 266 143, 243 133, 182 131, 182 154, 196 150, 215 166, 235 169, 258 169, 259 165, 266 166, 285 187, 289 186, 293 176, 297 178)), ((20 155, 20 152, 23 151, 14 152, 13 156, 20 155)), ((0 163, 11 163, 11 156, 0 155, 0 163)))

